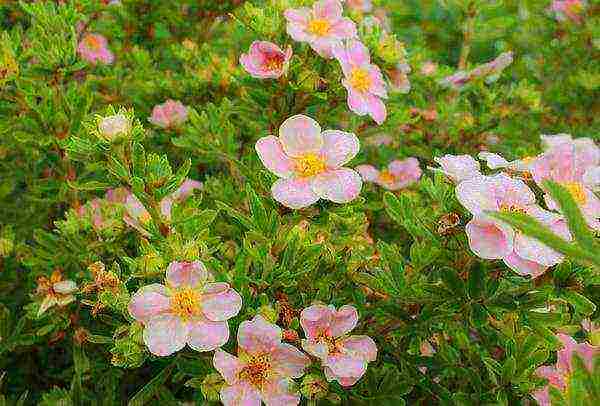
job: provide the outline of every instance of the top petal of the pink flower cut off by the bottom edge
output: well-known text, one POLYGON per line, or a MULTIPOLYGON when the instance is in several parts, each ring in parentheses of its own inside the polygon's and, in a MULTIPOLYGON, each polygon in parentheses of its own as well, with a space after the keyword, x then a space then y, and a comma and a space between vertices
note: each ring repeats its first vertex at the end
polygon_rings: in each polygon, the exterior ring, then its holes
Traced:
POLYGON ((281 343, 281 328, 257 315, 251 321, 243 321, 238 328, 238 344, 246 352, 271 353, 281 343))

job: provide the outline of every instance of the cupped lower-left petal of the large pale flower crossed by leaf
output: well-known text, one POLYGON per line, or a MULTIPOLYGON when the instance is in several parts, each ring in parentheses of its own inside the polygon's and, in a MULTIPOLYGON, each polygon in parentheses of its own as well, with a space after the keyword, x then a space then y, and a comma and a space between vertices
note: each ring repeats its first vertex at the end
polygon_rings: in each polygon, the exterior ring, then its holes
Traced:
POLYGON ((501 259, 513 251, 514 231, 496 222, 474 218, 465 231, 469 247, 480 258, 501 259))

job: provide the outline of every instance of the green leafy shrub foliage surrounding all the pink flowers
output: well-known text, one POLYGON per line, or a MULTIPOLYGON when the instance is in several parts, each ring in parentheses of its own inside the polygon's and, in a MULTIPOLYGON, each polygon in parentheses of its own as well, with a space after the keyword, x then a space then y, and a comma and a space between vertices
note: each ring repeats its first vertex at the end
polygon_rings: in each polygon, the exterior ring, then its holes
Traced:
MULTIPOLYGON (((152 356, 127 312, 131 294, 162 280, 173 260, 201 259, 242 295, 232 332, 255 314, 299 330, 297 311, 315 301, 356 306, 378 359, 352 388, 330 384, 323 404, 516 404, 542 383, 534 371, 560 348, 555 331, 600 344, 580 328, 598 320, 597 236, 560 187, 548 190, 575 242, 526 217, 503 217, 568 255, 530 280, 470 252, 468 214, 439 174, 408 190, 365 185, 352 203, 292 211, 271 198, 274 177, 254 151, 297 113, 359 136, 353 165, 415 156, 425 167, 435 156, 482 148, 517 158, 537 152, 545 133, 597 140, 594 1, 574 24, 555 21, 549 1, 373 0, 393 34, 350 11, 374 63, 413 69, 410 93, 390 95, 381 126, 348 111, 338 64, 306 44, 293 44, 281 80, 253 79, 239 67, 254 40, 291 45, 283 11, 312 1, 106 3, 0 5, 0 404, 214 400, 220 383, 210 355, 152 356), (113 65, 78 57, 84 31, 108 38, 113 65), (460 92, 438 84, 458 66, 508 50, 515 62, 493 84, 477 80, 460 92), (433 75, 420 73, 428 61, 437 64, 433 75), (147 123, 167 98, 189 106, 179 128, 147 123), (95 114, 115 112, 110 105, 130 109, 130 138, 111 143, 90 131, 95 114), (391 143, 375 146, 382 134, 391 143), (202 190, 166 220, 160 201, 185 178, 202 181, 202 190), (117 187, 147 208, 143 235, 125 224, 119 205, 102 206, 102 227, 81 214, 117 187), (115 283, 101 283, 98 262, 115 283), (77 301, 40 316, 37 280, 56 270, 82 289, 77 301), (421 353, 424 342, 433 356, 421 353)), ((566 401, 597 401, 599 376, 598 367, 577 367, 566 401)))

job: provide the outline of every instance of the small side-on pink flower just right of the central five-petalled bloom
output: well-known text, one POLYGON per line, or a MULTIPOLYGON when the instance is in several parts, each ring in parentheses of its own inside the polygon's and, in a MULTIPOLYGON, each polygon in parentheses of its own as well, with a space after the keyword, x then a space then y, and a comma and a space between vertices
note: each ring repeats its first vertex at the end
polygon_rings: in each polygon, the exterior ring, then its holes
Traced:
POLYGON ((374 182, 388 190, 405 188, 421 178, 419 161, 407 158, 403 161, 392 161, 387 169, 377 170, 372 165, 359 165, 354 168, 365 182, 374 182))

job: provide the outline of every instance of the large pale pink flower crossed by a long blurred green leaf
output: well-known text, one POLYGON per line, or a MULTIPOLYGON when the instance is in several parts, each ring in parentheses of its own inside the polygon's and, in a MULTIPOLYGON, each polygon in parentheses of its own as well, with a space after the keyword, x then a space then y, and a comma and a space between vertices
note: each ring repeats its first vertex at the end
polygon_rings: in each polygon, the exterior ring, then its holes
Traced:
POLYGON ((521 275, 537 277, 563 256, 550 247, 489 216, 491 212, 524 213, 570 239, 563 218, 536 204, 535 194, 519 179, 504 173, 463 180, 456 187, 459 202, 473 214, 465 231, 469 247, 484 259, 502 259, 521 275))

